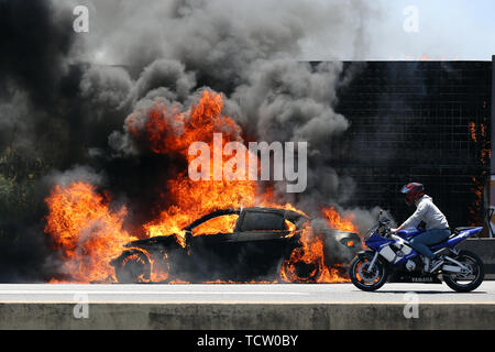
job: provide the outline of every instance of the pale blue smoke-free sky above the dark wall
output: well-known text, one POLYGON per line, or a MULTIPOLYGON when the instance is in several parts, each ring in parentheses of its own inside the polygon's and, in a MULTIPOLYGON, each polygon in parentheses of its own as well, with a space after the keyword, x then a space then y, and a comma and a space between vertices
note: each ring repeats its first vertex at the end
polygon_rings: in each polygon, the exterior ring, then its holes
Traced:
POLYGON ((495 54, 495 2, 490 0, 380 0, 384 21, 372 28, 374 56, 490 61, 495 54), (404 9, 418 9, 418 32, 404 31, 404 9), (389 52, 389 53, 388 53, 389 52))

